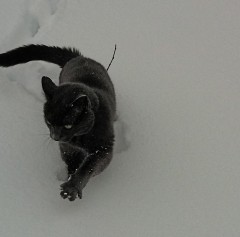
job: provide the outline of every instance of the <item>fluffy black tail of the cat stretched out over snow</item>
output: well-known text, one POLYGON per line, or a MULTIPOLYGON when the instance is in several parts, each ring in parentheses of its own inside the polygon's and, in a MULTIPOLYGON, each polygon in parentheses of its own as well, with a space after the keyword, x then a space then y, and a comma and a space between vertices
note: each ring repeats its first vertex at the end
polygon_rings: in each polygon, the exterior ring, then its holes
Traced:
POLYGON ((24 45, 0 54, 0 66, 10 67, 30 61, 46 61, 63 67, 72 58, 81 56, 75 48, 60 48, 46 45, 24 45))

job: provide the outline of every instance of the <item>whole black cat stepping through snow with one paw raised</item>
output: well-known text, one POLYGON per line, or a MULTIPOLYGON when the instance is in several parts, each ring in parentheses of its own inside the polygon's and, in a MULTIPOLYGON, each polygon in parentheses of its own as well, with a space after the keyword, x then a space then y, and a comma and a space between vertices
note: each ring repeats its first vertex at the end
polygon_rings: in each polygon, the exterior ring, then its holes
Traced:
POLYGON ((61 196, 82 198, 89 179, 103 171, 112 159, 113 122, 116 113, 114 87, 107 70, 74 48, 27 45, 0 54, 0 66, 9 67, 42 60, 62 68, 59 86, 42 78, 44 118, 52 139, 59 141, 69 179, 61 196))

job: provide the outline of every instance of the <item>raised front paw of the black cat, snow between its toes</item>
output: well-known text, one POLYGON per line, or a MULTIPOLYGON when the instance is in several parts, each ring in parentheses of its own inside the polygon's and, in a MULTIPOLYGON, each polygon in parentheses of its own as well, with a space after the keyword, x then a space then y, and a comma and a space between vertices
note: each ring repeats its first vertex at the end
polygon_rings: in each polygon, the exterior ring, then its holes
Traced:
POLYGON ((72 182, 71 179, 61 185, 61 193, 63 199, 68 198, 69 201, 74 201, 77 197, 82 198, 82 189, 80 185, 72 182))

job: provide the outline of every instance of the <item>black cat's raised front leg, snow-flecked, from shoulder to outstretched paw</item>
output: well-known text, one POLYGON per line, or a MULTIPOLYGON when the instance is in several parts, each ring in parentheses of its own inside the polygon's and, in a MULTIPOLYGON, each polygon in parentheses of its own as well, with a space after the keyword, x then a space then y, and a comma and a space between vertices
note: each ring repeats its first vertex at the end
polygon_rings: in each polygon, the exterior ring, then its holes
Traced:
POLYGON ((77 197, 82 198, 82 189, 86 186, 89 179, 101 173, 112 159, 112 148, 106 148, 102 151, 97 150, 89 155, 82 166, 70 176, 69 180, 61 185, 61 196, 70 201, 77 197))

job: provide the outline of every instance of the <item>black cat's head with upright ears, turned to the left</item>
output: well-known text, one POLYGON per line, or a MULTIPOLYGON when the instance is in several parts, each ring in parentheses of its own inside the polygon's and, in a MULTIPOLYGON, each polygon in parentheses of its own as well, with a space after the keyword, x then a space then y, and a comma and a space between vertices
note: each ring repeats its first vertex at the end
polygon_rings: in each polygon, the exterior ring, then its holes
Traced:
POLYGON ((74 84, 56 86, 50 78, 42 78, 46 96, 44 118, 50 136, 56 141, 70 142, 88 133, 94 124, 89 98, 74 84))

